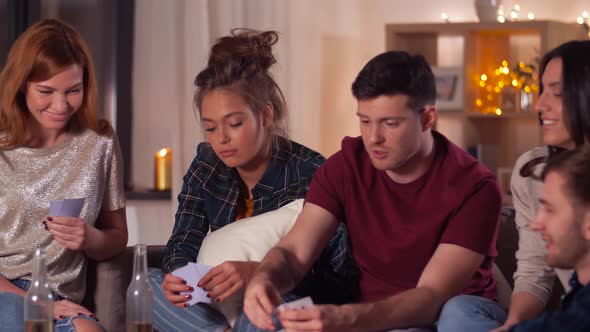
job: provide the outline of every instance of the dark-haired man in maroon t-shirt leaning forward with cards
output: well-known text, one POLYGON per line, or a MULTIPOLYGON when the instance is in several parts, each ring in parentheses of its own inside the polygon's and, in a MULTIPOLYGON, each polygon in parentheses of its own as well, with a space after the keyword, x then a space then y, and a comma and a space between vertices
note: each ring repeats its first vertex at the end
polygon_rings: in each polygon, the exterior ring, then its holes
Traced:
POLYGON ((276 328, 279 294, 303 277, 338 220, 360 269, 360 302, 281 310, 287 331, 429 327, 457 294, 495 298, 500 190, 490 171, 432 130, 428 63, 405 52, 380 54, 352 91, 361 137, 345 138, 316 172, 295 226, 246 289, 244 311, 260 328, 276 328))

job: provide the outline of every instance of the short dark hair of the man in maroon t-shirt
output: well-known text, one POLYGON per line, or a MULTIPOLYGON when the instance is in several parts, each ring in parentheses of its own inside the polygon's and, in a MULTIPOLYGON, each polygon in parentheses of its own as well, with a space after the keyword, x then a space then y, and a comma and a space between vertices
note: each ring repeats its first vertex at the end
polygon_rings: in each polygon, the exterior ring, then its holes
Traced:
POLYGON ((436 86, 430 65, 422 55, 390 51, 371 59, 352 83, 352 94, 357 100, 397 94, 409 97, 409 107, 421 112, 434 104, 436 86))

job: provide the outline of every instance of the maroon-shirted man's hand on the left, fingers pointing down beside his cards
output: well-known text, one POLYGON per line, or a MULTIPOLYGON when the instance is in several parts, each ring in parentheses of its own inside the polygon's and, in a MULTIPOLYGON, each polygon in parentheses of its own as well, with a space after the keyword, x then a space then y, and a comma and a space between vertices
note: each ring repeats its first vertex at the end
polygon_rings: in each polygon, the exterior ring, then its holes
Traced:
POLYGON ((271 315, 274 308, 282 302, 281 295, 272 283, 257 275, 250 280, 244 295, 244 313, 252 324, 264 330, 274 331, 271 315))

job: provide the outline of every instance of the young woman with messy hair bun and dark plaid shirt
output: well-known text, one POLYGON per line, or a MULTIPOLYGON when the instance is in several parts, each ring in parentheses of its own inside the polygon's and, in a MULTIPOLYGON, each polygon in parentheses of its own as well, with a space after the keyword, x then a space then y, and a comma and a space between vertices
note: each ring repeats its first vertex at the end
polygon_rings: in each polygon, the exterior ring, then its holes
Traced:
MULTIPOLYGON (((277 40, 274 31, 232 30, 212 47, 207 67, 195 79, 194 104, 206 142, 199 144, 184 176, 162 271, 150 271, 159 331, 230 329, 213 308, 203 303, 189 307, 190 295, 181 294, 189 287, 171 272, 196 260, 209 230, 303 198, 325 160, 287 138, 284 96, 269 73, 277 40)), ((326 249, 333 253, 330 264, 341 268, 350 257, 345 236, 341 226, 326 249)), ((198 286, 213 301, 224 301, 244 288, 258 264, 226 261, 198 286)))

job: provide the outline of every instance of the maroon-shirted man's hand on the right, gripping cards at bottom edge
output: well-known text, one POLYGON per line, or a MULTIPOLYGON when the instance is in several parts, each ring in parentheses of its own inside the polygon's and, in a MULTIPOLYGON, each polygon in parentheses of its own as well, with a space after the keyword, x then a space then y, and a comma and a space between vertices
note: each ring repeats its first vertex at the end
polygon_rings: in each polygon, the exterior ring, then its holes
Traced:
POLYGON ((289 331, 347 331, 343 307, 335 305, 314 305, 309 309, 283 309, 279 320, 286 332, 289 331))

